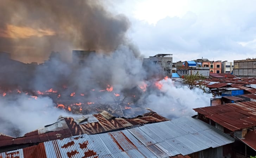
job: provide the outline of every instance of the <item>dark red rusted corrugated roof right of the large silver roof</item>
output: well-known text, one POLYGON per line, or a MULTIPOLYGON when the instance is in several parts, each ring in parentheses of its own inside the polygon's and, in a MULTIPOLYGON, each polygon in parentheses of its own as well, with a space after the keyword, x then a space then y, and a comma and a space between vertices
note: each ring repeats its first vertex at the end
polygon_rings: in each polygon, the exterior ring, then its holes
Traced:
POLYGON ((256 102, 245 101, 194 110, 231 131, 256 125, 256 102))

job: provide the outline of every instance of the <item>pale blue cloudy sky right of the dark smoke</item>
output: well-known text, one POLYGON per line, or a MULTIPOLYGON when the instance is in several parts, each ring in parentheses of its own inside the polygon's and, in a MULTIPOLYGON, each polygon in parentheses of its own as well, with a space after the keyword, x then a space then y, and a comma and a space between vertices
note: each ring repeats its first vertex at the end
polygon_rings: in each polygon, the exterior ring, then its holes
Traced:
POLYGON ((129 38, 145 57, 173 62, 256 58, 256 1, 125 0, 105 2, 131 22, 129 38))

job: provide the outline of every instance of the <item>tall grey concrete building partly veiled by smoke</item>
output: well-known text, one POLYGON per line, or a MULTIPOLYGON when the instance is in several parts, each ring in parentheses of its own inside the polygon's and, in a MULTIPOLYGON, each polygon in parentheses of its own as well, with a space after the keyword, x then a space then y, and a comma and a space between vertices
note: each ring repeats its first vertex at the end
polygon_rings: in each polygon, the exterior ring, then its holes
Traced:
POLYGON ((172 77, 172 54, 156 54, 143 59, 143 67, 162 77, 172 77))

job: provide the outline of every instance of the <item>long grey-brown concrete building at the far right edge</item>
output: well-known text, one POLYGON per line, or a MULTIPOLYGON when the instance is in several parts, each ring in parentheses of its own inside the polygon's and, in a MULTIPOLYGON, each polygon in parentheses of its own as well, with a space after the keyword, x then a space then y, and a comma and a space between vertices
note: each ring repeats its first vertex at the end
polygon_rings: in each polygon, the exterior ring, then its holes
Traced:
POLYGON ((255 77, 256 59, 234 60, 233 75, 237 77, 255 77))

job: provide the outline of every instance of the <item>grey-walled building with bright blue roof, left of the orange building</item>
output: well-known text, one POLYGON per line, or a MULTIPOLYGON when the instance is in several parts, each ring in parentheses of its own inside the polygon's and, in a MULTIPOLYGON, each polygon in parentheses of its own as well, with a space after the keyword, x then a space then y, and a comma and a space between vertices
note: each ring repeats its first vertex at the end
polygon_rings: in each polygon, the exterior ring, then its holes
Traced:
POLYGON ((203 75, 206 78, 209 78, 209 67, 201 67, 201 63, 196 63, 195 61, 178 61, 177 65, 177 73, 180 76, 185 75, 203 75))

